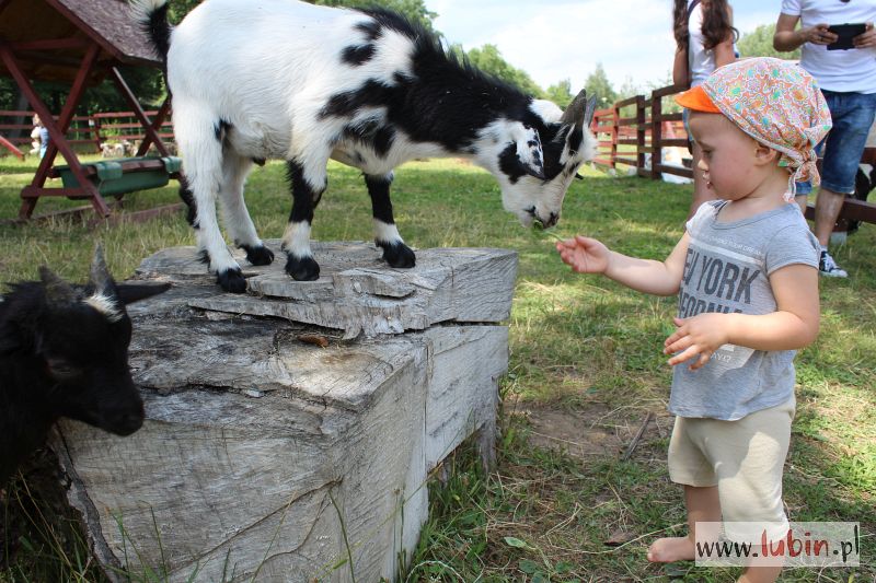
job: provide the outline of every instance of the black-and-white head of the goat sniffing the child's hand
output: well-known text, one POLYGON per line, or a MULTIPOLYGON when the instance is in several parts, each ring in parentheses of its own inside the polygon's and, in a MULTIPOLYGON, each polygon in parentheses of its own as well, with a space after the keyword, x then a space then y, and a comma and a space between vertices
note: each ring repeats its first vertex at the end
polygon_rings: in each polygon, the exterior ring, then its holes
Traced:
POLYGON ((590 132, 595 107, 596 97, 588 100, 585 91, 565 112, 535 100, 526 115, 531 124, 502 120, 482 135, 479 158, 502 185, 505 210, 523 226, 539 221, 548 228, 560 220, 578 167, 596 155, 597 141, 590 132))

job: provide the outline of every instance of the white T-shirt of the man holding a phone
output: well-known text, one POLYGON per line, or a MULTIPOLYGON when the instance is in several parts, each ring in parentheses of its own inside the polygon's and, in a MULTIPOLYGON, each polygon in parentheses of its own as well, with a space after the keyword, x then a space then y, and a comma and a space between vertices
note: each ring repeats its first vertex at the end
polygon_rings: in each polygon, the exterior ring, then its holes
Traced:
MULTIPOLYGON (((782 0, 782 14, 800 18, 800 26, 876 21, 876 0, 782 0)), ((821 89, 876 93, 876 48, 828 50, 826 45, 804 43, 800 66, 821 89)))

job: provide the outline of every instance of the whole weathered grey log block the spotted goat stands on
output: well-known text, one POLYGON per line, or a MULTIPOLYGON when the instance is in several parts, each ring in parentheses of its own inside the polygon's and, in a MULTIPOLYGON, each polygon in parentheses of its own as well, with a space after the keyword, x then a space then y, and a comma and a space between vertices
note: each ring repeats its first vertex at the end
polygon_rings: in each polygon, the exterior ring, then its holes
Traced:
POLYGON ((111 579, 392 581, 429 471, 479 432, 491 456, 515 254, 423 249, 403 271, 362 244, 314 247, 323 278, 278 260, 252 270, 252 296, 221 293, 193 248, 143 261, 174 287, 128 307, 142 429, 65 421, 53 442, 111 579))

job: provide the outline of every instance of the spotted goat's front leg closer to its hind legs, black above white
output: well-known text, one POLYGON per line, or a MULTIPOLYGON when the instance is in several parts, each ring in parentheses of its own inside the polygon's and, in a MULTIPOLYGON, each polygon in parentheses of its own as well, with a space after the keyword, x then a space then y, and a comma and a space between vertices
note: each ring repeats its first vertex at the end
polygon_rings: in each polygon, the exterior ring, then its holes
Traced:
POLYGON ((287 257, 286 272, 297 281, 313 281, 320 278, 320 266, 310 249, 310 229, 313 224, 313 209, 327 184, 325 164, 323 163, 321 173, 306 172, 304 165, 296 160, 289 160, 287 164, 292 190, 292 212, 283 235, 283 250, 287 257), (311 177, 313 174, 315 177, 311 177))

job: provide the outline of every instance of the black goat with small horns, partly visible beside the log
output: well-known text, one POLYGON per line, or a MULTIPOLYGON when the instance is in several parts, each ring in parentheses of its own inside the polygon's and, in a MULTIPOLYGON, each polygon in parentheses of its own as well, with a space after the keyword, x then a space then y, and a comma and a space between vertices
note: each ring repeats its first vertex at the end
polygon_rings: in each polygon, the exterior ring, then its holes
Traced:
POLYGON ((60 417, 118 435, 143 421, 125 305, 168 285, 116 284, 100 247, 84 289, 46 267, 39 278, 0 296, 0 487, 60 417))

